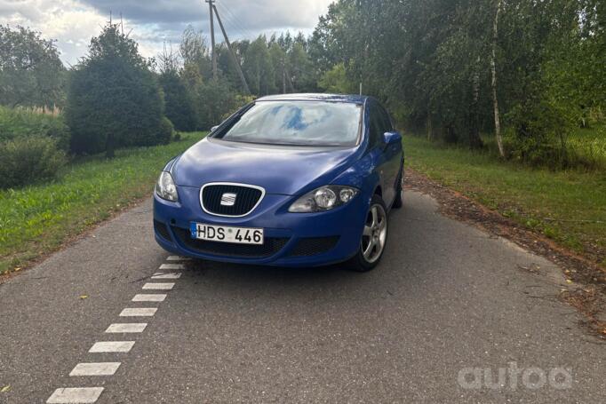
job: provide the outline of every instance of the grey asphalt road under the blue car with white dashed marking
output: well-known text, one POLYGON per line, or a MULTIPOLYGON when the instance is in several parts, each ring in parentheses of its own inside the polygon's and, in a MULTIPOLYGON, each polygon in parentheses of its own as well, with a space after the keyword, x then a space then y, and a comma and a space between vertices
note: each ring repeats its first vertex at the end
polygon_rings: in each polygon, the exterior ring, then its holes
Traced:
POLYGON ((145 202, 0 286, 0 402, 606 402, 606 350, 555 297, 561 270, 427 196, 407 194, 366 274, 179 264, 150 223, 145 202), (123 323, 140 332, 106 332, 123 323), (91 371, 108 376, 69 376, 91 371))

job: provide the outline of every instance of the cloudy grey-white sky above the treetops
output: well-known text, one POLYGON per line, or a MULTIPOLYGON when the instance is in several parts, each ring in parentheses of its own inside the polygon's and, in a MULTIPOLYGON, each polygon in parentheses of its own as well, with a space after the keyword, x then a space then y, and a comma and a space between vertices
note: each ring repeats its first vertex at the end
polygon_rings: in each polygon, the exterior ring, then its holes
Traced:
MULTIPOLYGON (((234 41, 286 30, 309 35, 332 1, 216 0, 215 4, 234 41)), ((66 65, 75 65, 86 54, 92 36, 100 33, 110 12, 114 21, 122 13, 124 32, 131 33, 145 57, 156 56, 163 44, 176 48, 187 24, 206 36, 210 33, 204 0, 0 0, 0 24, 29 27, 42 32, 44 38, 57 40, 66 65)), ((220 42, 218 25, 215 29, 220 42)))

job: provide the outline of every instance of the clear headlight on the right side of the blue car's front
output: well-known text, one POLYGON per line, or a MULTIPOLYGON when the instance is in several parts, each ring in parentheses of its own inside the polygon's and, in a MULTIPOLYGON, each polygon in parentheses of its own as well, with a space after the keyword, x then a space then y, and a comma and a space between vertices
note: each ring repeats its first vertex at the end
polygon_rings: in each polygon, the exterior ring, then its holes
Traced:
POLYGON ((351 186, 323 186, 301 196, 291 204, 291 213, 314 213, 332 210, 355 198, 358 190, 351 186))

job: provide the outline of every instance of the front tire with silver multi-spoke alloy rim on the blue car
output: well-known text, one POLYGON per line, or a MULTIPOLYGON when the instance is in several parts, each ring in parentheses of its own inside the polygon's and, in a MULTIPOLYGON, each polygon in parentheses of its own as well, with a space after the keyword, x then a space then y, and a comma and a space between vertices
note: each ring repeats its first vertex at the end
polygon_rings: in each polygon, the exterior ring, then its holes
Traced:
POLYGON ((379 265, 387 244, 388 227, 385 202, 379 195, 374 195, 364 222, 360 248, 355 256, 347 262, 350 270, 365 273, 379 265), (374 244, 374 247, 371 247, 371 243, 374 244))

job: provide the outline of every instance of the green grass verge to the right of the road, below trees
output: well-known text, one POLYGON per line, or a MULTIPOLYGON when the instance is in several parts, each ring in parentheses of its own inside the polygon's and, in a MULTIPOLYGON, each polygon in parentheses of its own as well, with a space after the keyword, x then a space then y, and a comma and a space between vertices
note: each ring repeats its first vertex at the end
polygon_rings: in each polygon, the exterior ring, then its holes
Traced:
POLYGON ((606 172, 551 171, 404 137, 407 164, 606 266, 606 172))

